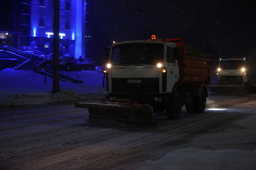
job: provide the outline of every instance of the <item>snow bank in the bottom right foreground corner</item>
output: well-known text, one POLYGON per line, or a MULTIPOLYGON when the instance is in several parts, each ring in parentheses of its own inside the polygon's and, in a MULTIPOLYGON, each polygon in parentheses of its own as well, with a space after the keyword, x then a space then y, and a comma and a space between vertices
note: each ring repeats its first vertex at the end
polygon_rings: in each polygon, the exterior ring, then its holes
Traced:
POLYGON ((199 150, 181 148, 168 153, 162 159, 148 161, 138 170, 144 169, 255 169, 256 150, 199 150))

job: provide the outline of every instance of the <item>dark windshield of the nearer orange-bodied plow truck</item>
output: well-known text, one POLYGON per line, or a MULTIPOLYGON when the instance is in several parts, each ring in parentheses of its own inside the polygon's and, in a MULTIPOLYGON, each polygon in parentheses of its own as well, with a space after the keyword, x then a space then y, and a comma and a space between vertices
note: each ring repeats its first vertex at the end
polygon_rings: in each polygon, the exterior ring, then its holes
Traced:
POLYGON ((114 64, 156 64, 164 60, 164 45, 132 43, 113 46, 111 61, 114 64))

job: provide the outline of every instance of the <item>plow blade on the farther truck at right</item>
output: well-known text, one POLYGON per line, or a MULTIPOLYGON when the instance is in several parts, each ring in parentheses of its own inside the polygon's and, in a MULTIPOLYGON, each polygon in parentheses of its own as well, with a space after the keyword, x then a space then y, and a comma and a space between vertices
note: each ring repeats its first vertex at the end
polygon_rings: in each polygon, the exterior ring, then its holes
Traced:
POLYGON ((211 94, 246 95, 245 85, 210 85, 211 94))

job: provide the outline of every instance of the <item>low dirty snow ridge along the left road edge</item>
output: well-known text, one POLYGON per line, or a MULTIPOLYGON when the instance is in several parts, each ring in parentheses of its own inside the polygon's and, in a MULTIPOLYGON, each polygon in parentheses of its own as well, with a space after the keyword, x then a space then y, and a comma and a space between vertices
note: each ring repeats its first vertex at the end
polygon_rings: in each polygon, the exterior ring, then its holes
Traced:
POLYGON ((63 90, 56 94, 49 95, 30 95, 15 94, 8 96, 8 99, 1 105, 19 106, 19 105, 36 105, 36 104, 53 104, 53 103, 70 103, 83 101, 86 97, 82 94, 76 94, 71 90, 63 90))

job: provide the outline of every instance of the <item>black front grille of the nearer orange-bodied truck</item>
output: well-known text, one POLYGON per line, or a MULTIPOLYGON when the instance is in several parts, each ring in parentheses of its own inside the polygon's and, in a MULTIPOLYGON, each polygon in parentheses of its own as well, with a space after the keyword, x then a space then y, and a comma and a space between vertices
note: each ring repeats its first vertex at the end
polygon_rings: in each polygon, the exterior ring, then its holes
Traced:
POLYGON ((157 93, 159 78, 112 78, 112 92, 157 93))

